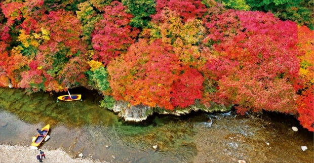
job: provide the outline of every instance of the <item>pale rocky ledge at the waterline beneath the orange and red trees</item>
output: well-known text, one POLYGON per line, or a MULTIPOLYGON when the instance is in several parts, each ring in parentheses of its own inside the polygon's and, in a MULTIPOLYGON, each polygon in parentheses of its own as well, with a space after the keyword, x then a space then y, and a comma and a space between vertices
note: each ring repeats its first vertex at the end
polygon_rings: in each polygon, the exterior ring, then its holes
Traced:
POLYGON ((159 113, 159 114, 172 114, 172 115, 185 115, 193 111, 205 111, 205 112, 215 112, 215 111, 229 111, 231 107, 225 107, 224 105, 217 105, 215 103, 212 103, 210 107, 204 106, 204 105, 192 105, 190 107, 184 108, 184 109, 175 109, 175 110, 165 110, 162 108, 152 108, 149 106, 143 106, 143 105, 137 105, 132 106, 128 102, 125 101, 115 101, 112 108, 109 108, 109 110, 112 110, 115 113, 118 113, 119 117, 124 118, 125 121, 142 121, 145 120, 149 115, 152 115, 153 113, 159 113))

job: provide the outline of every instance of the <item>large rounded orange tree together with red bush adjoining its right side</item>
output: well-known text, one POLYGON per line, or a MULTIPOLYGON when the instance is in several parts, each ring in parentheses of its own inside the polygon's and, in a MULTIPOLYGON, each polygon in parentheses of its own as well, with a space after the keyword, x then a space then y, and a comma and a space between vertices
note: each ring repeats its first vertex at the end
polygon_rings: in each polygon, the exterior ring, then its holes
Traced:
POLYGON ((173 48, 161 39, 151 44, 139 40, 108 64, 113 98, 170 110, 194 104, 202 98, 204 78, 197 69, 180 63, 173 48))

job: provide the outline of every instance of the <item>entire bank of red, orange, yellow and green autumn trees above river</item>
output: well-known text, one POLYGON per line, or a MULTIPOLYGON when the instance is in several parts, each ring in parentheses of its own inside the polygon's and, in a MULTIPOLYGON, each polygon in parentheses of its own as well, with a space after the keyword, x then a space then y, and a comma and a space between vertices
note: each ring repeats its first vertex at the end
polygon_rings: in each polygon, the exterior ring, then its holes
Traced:
POLYGON ((0 86, 85 86, 168 110, 277 111, 313 131, 313 12, 278 2, 2 1, 0 86))

